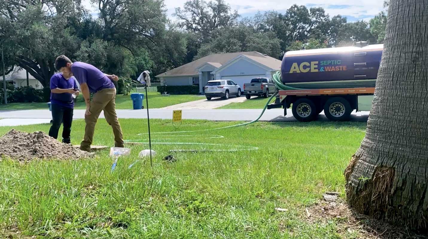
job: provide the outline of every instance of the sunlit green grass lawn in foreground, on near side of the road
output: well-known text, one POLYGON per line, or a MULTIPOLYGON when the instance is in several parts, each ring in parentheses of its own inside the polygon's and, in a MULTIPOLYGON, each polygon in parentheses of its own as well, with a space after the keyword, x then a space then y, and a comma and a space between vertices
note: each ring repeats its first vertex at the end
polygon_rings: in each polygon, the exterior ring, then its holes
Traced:
MULTIPOLYGON (((152 133, 174 130, 169 120, 150 122, 152 133)), ((120 123, 125 139, 146 142, 147 135, 137 135, 147 132, 145 120, 120 123)), ((179 130, 232 124, 186 120, 179 130)), ((14 128, 48 132, 49 127, 14 128)), ((0 135, 11 128, 0 127, 0 135)), ((305 207, 325 191, 344 196, 342 173, 365 128, 364 123, 349 122, 258 122, 206 132, 152 134, 157 151, 153 168, 144 159, 128 169, 139 151, 148 148, 128 145, 131 156, 120 158, 113 173, 108 150, 75 161, 20 164, 3 158, 0 238, 359 238, 355 231, 339 234, 341 218, 305 220, 305 207), (162 160, 172 149, 245 147, 259 149, 172 153, 177 162, 162 160)), ((73 122, 73 144, 80 142, 83 129, 82 120, 73 122)), ((102 119, 94 145, 113 146, 111 128, 102 119)))

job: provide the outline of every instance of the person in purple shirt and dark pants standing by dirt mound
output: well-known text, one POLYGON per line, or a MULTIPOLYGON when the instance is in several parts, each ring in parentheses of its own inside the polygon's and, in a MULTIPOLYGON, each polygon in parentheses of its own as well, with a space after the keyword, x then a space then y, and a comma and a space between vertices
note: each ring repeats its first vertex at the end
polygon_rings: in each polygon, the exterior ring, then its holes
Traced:
POLYGON ((62 142, 69 144, 74 108, 72 94, 79 95, 79 88, 74 78, 65 79, 59 73, 53 74, 50 85, 52 126, 49 130, 49 136, 56 139, 62 123, 62 142))

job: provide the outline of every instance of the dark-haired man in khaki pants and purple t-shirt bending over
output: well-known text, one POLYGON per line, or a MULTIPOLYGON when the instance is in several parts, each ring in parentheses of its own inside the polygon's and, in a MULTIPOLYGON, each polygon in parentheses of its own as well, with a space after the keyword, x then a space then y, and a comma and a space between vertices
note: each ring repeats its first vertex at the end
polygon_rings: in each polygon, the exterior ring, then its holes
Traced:
POLYGON ((86 102, 85 136, 80 143, 80 150, 91 151, 95 124, 101 111, 104 111, 104 118, 113 128, 115 147, 123 148, 122 128, 116 115, 116 88, 111 81, 118 81, 119 78, 115 75, 104 74, 93 65, 84 62, 71 62, 64 55, 56 58, 55 68, 61 71, 65 78, 70 78, 73 75, 76 77, 86 102), (90 93, 93 93, 92 100, 90 93))

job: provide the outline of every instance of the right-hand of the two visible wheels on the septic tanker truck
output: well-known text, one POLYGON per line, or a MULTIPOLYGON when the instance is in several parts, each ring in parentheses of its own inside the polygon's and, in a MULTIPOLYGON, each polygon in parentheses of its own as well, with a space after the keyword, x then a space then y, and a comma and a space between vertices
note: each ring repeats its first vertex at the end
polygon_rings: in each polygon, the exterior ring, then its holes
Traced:
POLYGON ((351 112, 351 104, 343 97, 330 98, 324 105, 324 114, 331 121, 347 121, 351 112))

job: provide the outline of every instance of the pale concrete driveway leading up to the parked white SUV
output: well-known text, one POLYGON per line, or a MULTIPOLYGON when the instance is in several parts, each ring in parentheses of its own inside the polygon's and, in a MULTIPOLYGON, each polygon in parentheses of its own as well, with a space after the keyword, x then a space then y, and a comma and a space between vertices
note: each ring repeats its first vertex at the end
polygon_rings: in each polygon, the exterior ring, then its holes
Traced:
POLYGON ((166 106, 162 109, 215 109, 221 106, 225 106, 230 103, 239 103, 247 100, 244 96, 234 97, 231 96, 228 100, 222 98, 213 98, 212 100, 195 100, 186 103, 176 104, 172 106, 166 106))

